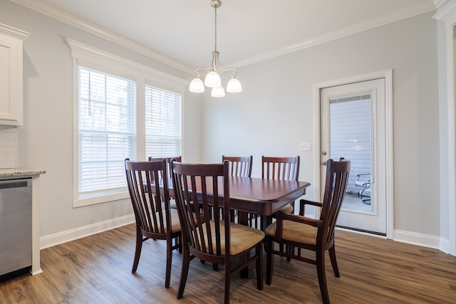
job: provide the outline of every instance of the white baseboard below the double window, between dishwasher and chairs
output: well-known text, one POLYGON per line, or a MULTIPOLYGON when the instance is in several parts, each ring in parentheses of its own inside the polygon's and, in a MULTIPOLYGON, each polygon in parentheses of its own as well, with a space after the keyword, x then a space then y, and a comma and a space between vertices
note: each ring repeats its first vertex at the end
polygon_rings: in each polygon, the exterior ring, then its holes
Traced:
POLYGON ((56 246, 61 243, 68 241, 74 241, 81 239, 86 236, 93 234, 99 234, 100 232, 115 229, 120 226, 125 226, 135 222, 135 216, 130 214, 128 216, 121 216, 116 219, 110 219, 108 221, 100 221, 99 223, 91 224, 88 226, 82 226, 76 229, 59 232, 58 234, 50 234, 48 236, 42 236, 40 238, 40 249, 56 246))

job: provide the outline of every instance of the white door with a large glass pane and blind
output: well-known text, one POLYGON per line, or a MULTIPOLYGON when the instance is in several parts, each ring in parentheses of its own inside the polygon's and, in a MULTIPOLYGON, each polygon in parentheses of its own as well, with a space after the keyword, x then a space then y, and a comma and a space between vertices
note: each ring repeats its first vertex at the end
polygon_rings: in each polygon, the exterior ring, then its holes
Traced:
POLYGON ((337 225, 386 236, 385 78, 322 88, 321 191, 326 160, 351 161, 337 225))

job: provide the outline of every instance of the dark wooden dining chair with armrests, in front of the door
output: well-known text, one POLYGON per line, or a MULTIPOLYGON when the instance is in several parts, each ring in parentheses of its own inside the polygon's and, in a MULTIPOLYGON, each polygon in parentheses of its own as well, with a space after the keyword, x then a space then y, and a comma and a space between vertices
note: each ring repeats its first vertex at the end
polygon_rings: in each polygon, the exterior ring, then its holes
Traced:
POLYGON ((311 263, 316 265, 323 303, 329 303, 324 256, 325 251, 328 251, 334 275, 337 278, 340 277, 334 246, 334 228, 336 227, 337 217, 347 189, 349 172, 350 161, 343 158, 338 162, 328 159, 328 162, 326 162, 326 184, 323 202, 301 199, 299 215, 277 214, 276 221, 266 228, 266 284, 271 285, 272 283, 273 254, 311 263), (311 219, 304 216, 306 204, 321 207, 320 219, 311 219), (274 243, 283 244, 287 248, 292 248, 292 250, 287 250, 286 252, 276 251, 274 250, 274 243), (315 258, 302 256, 301 249, 314 251, 315 258))

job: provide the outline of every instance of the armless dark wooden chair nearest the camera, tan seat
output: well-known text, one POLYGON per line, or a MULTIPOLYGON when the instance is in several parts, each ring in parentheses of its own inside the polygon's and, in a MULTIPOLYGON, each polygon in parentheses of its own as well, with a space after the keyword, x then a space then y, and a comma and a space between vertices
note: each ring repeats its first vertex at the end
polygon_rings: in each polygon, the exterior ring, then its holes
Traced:
POLYGON ((177 298, 184 294, 190 261, 195 257, 224 264, 224 303, 229 303, 232 276, 254 262, 257 288, 263 289, 264 232, 230 221, 228 166, 228 162, 171 164, 172 187, 182 226, 182 272, 177 298), (199 204, 192 204, 195 201, 199 204))

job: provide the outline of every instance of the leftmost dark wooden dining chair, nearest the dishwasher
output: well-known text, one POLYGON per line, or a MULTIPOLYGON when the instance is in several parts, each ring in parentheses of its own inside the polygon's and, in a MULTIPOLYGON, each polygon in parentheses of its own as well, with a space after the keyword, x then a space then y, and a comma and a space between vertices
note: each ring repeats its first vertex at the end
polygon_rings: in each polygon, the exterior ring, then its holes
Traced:
POLYGON ((170 208, 166 159, 150 162, 132 162, 125 159, 128 192, 135 213, 136 248, 132 273, 140 261, 142 243, 147 239, 166 241, 165 288, 170 287, 172 250, 181 246, 180 221, 176 209, 170 208), (155 181, 162 187, 154 189, 155 181), (174 241, 174 243, 173 243, 174 241))

